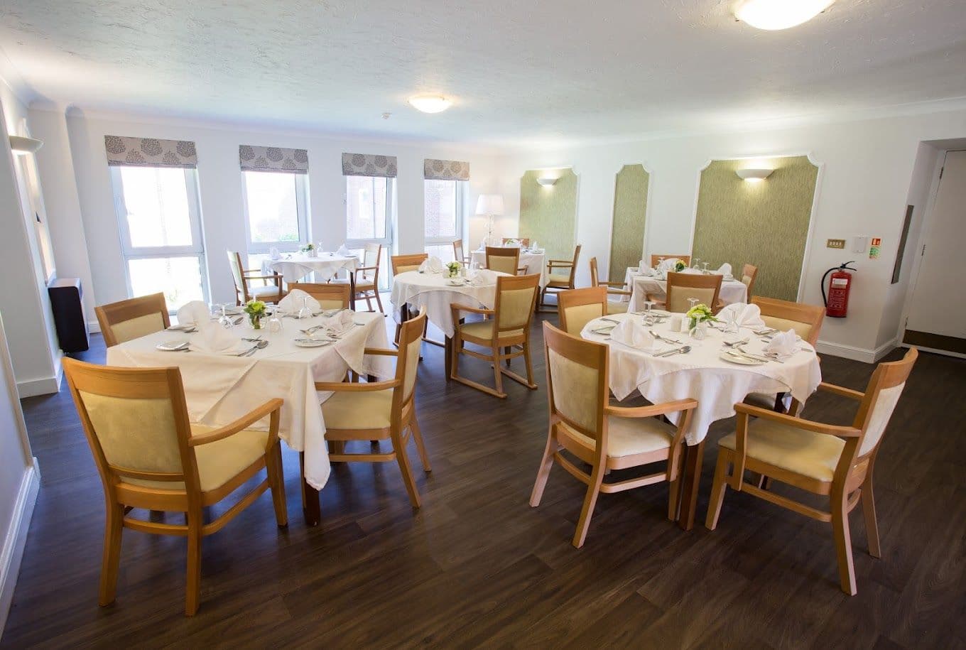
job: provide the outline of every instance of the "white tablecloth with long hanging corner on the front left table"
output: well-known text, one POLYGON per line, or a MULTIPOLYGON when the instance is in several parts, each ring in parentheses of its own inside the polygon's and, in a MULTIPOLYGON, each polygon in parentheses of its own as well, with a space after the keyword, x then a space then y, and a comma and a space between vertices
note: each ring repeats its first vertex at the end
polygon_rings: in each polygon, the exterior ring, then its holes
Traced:
MULTIPOLYGON (((305 479, 317 490, 326 484, 328 452, 320 403, 331 393, 317 393, 315 382, 340 382, 349 368, 363 375, 391 379, 390 357, 364 356, 363 349, 389 348, 382 314, 360 312, 357 326, 340 341, 324 348, 298 348, 292 340, 304 336, 298 329, 321 319, 282 319, 284 330, 270 334, 263 325, 254 330, 236 325, 241 336, 261 336, 269 346, 252 356, 239 357, 198 352, 161 352, 162 341, 190 340, 192 334, 160 331, 107 349, 107 364, 114 366, 178 366, 185 384, 188 416, 192 422, 219 427, 230 424, 273 397, 285 401, 279 438, 305 452, 305 479)), ((252 429, 268 430, 265 418, 252 429)))

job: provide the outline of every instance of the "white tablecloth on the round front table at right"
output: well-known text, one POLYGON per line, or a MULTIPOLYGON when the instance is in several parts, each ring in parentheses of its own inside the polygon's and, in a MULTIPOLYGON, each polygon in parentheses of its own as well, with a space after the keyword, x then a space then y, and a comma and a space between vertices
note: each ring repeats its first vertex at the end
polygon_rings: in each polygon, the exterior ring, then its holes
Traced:
MULTIPOLYGON (((609 318, 623 320, 642 317, 616 314, 609 318)), ((822 381, 818 357, 804 341, 799 342, 801 352, 795 353, 784 363, 769 361, 762 365, 737 365, 720 358, 724 351, 724 334, 721 330, 709 329, 707 338, 697 341, 687 333, 671 333, 668 322, 655 325, 654 331, 692 346, 690 353, 659 357, 612 342, 609 336, 592 333, 597 327, 612 325, 600 319, 588 323, 581 336, 610 347, 611 391, 617 399, 626 398, 637 388, 641 395, 655 404, 686 398, 697 400, 691 428, 685 434, 688 444, 703 440, 708 427, 715 420, 734 415, 734 405, 744 401, 751 393, 789 392, 804 404, 822 381)), ((745 348, 748 352, 758 354, 764 351, 764 342, 752 330, 742 329, 741 336, 750 339, 745 348)), ((658 345, 662 350, 677 347, 664 342, 658 345)), ((676 414, 668 417, 677 421, 676 414)))

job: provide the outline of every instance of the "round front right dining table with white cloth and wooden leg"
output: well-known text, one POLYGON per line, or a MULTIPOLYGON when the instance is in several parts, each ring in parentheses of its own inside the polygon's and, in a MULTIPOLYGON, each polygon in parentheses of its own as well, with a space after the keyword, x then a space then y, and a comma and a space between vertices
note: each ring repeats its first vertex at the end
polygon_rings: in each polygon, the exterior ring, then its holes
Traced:
MULTIPOLYGON (((653 313, 653 325, 646 325, 646 317, 639 314, 594 319, 583 327, 581 336, 608 346, 609 382, 616 399, 624 400, 637 391, 653 404, 689 398, 697 401, 685 432, 687 446, 679 499, 678 521, 690 530, 695 522, 704 440, 711 424, 734 415, 734 405, 752 393, 787 393, 805 404, 822 380, 821 368, 814 348, 803 340, 798 340, 794 353, 773 358, 766 351, 769 334, 755 333, 761 329, 741 327, 736 333, 725 333, 724 324, 709 324, 713 326, 708 326, 704 338, 698 339, 688 332, 671 331, 668 312, 653 313), (660 340, 649 350, 612 340, 612 327, 627 319, 637 319, 660 340), (740 347, 726 345, 741 341, 747 343, 740 347), (684 346, 689 349, 670 353, 684 346)), ((674 424, 679 417, 680 413, 668 415, 674 424)))

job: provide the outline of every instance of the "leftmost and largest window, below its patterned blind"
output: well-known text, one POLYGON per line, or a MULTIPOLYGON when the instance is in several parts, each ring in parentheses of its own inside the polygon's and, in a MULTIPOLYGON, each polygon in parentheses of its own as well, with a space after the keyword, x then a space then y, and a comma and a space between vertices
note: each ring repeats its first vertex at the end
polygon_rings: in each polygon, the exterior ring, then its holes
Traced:
POLYGON ((128 295, 161 292, 172 313, 189 300, 206 300, 196 170, 121 165, 110 171, 128 295))

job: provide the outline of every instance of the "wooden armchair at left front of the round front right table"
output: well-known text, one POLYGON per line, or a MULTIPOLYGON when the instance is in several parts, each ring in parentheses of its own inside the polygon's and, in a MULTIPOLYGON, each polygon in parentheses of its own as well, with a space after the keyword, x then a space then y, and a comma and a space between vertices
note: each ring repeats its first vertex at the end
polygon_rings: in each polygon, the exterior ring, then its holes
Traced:
POLYGON ((597 495, 668 482, 668 519, 677 517, 677 481, 681 473, 684 434, 691 423, 695 400, 676 400, 644 407, 616 407, 609 403, 610 354, 601 343, 562 332, 547 322, 547 399, 550 427, 530 505, 540 505, 554 463, 587 486, 573 544, 580 549, 587 536, 597 495), (676 427, 663 415, 680 413, 676 427), (590 466, 586 471, 563 452, 590 466), (611 469, 665 463, 663 470, 611 483, 611 469))

